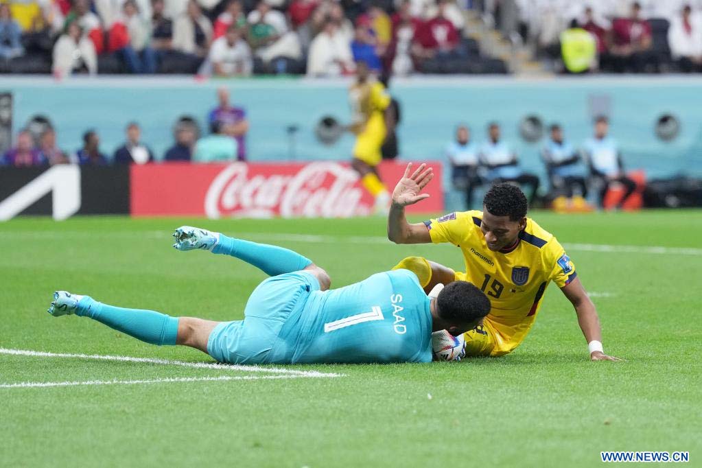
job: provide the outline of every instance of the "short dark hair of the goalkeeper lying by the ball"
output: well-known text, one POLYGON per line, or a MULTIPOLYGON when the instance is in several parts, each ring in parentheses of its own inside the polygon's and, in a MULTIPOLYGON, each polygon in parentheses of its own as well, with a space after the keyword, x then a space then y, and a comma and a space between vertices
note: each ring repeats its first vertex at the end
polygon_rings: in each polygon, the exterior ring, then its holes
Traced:
POLYGON ((490 312, 490 300, 468 281, 453 281, 437 297, 439 317, 449 323, 474 323, 490 312))

